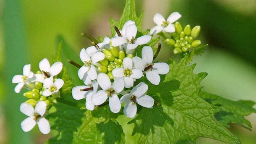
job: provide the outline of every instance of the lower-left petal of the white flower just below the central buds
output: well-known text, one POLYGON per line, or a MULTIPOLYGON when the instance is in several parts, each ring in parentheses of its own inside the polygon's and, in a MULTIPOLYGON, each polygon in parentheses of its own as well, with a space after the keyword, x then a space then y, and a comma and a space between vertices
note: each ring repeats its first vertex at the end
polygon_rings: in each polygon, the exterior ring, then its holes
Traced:
POLYGON ((91 97, 92 103, 95 106, 103 104, 108 98, 108 94, 104 90, 100 90, 97 93, 94 93, 91 97))

